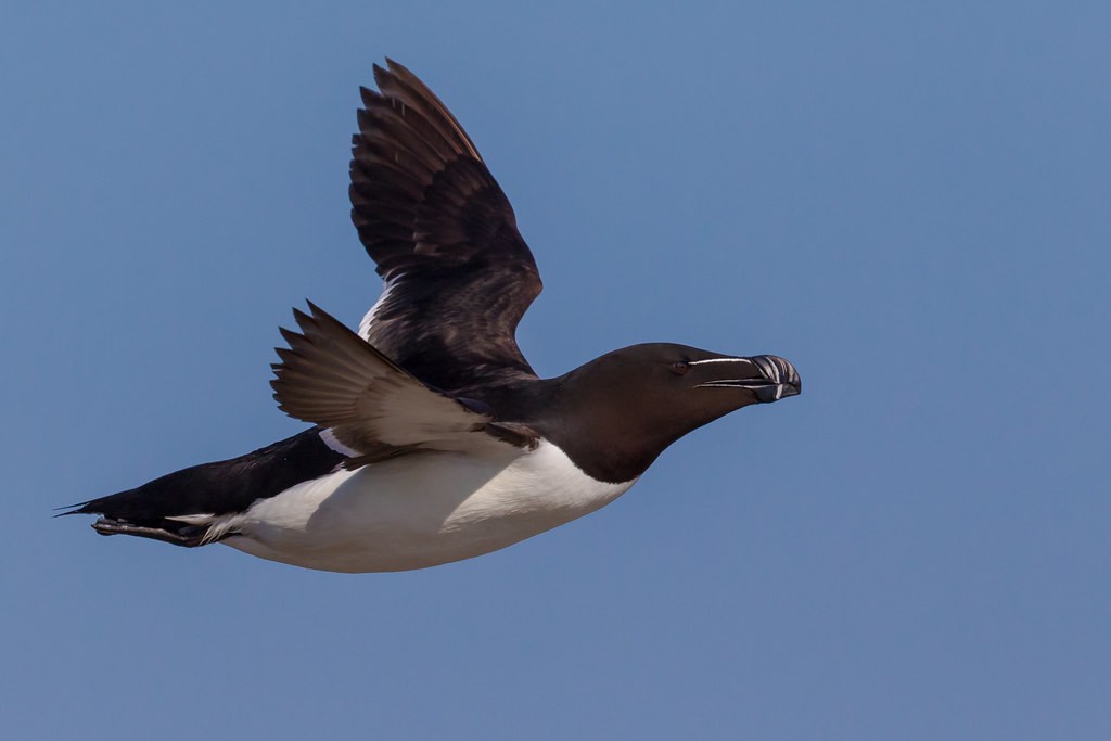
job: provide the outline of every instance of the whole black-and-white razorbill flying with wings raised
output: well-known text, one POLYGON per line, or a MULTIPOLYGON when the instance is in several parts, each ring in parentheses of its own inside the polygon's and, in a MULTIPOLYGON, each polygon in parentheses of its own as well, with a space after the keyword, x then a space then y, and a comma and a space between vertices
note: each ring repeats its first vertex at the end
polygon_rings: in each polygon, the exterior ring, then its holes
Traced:
POLYGON ((423 569, 593 512, 684 434, 801 392, 780 357, 662 342, 538 377, 516 333, 541 281, 509 200, 416 74, 387 58, 373 78, 349 194, 382 293, 358 331, 294 309, 271 366, 279 409, 311 427, 62 514, 306 569, 423 569))

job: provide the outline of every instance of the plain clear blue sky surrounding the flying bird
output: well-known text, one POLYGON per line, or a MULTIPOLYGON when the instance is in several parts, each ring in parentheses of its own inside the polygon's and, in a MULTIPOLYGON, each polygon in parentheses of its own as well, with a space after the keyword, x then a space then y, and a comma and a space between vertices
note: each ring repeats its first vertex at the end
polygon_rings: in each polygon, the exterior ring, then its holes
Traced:
POLYGON ((4 2, 3 735, 1111 738, 1109 38, 1105 2, 4 2), (803 395, 421 572, 52 520, 302 429, 272 347, 378 296, 386 54, 517 209, 538 371, 678 341, 803 395))

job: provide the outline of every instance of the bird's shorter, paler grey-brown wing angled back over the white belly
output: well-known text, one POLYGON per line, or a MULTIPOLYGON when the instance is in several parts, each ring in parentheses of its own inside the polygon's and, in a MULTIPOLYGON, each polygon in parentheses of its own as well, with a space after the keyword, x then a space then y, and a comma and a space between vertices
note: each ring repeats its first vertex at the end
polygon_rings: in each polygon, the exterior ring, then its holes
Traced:
POLYGON ((278 348, 281 362, 270 384, 282 411, 328 428, 353 453, 347 465, 414 450, 533 444, 528 428, 496 423, 478 402, 429 388, 322 309, 309 308, 312 316, 293 310, 301 333, 281 330, 290 349, 278 348))

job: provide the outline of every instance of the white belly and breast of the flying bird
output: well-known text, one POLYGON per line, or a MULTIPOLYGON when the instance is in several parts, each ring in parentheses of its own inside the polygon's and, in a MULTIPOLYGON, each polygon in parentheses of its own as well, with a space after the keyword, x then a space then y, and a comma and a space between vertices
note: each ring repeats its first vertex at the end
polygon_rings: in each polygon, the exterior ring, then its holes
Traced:
POLYGON ((414 454, 287 489, 216 527, 222 542, 324 571, 404 571, 506 548, 610 503, 629 489, 597 481, 549 442, 477 459, 414 454))

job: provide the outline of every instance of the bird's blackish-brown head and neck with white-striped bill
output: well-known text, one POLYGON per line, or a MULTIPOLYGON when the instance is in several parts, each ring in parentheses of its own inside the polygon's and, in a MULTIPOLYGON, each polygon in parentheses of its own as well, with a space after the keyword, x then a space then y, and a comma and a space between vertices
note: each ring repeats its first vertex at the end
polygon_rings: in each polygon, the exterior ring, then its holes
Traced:
POLYGON ((775 356, 739 358, 668 343, 614 350, 554 382, 558 414, 536 427, 587 473, 614 482, 640 475, 691 430, 802 388, 794 367, 775 356))

